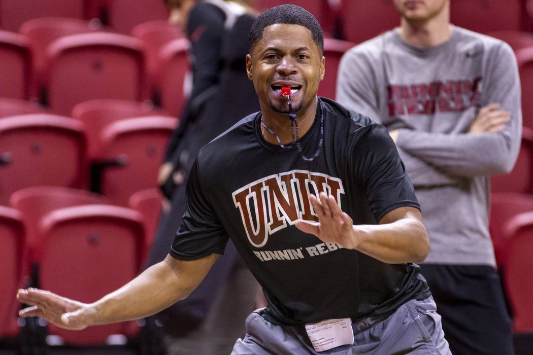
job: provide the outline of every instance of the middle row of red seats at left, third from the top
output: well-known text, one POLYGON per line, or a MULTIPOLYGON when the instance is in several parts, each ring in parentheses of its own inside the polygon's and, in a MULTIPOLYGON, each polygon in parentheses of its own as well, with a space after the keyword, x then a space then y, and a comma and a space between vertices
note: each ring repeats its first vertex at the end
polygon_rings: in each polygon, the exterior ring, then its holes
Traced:
MULTIPOLYGON (((0 113, 5 102, 31 105, 0 100, 0 113)), ((53 185, 98 186, 95 191, 125 205, 133 192, 157 186, 176 118, 115 100, 84 102, 74 112, 75 118, 51 113, 0 118, 0 204, 23 187, 53 185)))

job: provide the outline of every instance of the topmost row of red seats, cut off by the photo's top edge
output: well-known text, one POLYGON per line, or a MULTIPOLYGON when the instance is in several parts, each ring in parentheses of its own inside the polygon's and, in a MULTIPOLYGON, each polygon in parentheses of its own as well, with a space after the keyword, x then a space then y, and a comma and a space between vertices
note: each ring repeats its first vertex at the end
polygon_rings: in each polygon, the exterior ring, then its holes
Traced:
MULTIPOLYGON (((325 32, 337 38, 360 43, 380 32, 398 26, 399 15, 392 0, 250 0, 259 11, 283 3, 308 9, 325 32)), ((451 21, 477 32, 511 29, 531 31, 531 0, 462 0, 450 2, 451 21), (492 21, 497 18, 498 21, 492 21)), ((139 23, 164 20, 168 11, 162 0, 2 0, 0 27, 18 31, 33 18, 63 16, 100 19, 115 31, 130 34, 139 23)))

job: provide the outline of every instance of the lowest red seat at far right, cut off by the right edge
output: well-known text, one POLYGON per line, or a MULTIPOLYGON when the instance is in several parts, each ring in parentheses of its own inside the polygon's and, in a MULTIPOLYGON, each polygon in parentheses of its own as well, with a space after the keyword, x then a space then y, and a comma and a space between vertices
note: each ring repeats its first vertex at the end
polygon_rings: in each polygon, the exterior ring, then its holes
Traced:
POLYGON ((533 212, 518 214, 506 225, 508 255, 504 285, 514 332, 533 332, 533 212))

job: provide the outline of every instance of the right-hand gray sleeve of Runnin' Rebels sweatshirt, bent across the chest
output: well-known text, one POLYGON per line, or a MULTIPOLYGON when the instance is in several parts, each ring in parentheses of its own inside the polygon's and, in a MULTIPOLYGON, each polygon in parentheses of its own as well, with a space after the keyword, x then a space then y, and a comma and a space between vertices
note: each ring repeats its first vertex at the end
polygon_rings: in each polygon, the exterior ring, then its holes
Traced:
POLYGON ((499 103, 511 121, 497 133, 443 134, 400 129, 398 146, 425 162, 458 176, 505 174, 512 170, 521 142, 520 78, 514 53, 501 43, 483 85, 481 105, 499 103))

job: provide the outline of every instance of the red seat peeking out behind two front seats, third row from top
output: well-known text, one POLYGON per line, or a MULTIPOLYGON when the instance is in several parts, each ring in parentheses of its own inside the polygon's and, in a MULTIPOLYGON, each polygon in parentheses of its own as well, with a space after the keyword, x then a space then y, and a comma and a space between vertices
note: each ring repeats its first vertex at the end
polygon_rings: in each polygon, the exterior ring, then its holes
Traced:
POLYGON ((72 118, 85 123, 87 133, 87 153, 89 159, 100 154, 100 133, 112 122, 132 117, 165 115, 148 103, 129 100, 97 99, 77 104, 72 109, 72 118))

